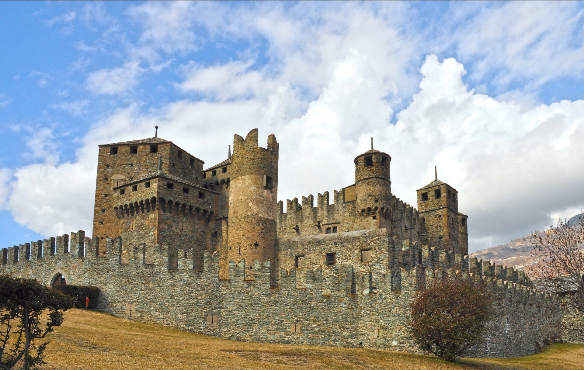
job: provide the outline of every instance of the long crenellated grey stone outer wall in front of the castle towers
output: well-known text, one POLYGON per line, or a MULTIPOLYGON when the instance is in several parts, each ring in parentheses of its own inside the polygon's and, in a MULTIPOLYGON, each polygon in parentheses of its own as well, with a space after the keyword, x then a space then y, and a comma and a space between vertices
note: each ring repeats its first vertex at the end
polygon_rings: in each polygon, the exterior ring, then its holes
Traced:
MULTIPOLYGON (((347 250, 364 246, 374 251, 370 263, 354 263, 356 258, 347 255, 332 266, 281 268, 276 287, 270 282, 269 261, 230 261, 228 274, 220 278, 219 253, 204 252, 200 271, 192 249, 134 245, 120 237, 105 239, 103 256, 98 254, 102 241, 85 238, 82 231, 71 233, 70 245, 64 235, 4 249, 0 273, 37 278, 47 285, 62 274, 67 284, 99 287, 100 310, 202 334, 408 352, 419 352, 407 331, 409 303, 416 291, 433 278, 458 273, 486 279, 499 297, 498 315, 471 355, 532 354, 537 343, 559 336, 555 329, 559 313, 537 315, 557 308, 557 302, 521 284, 529 280, 517 271, 475 259, 469 263, 465 256, 438 249, 404 249, 383 230, 356 234, 301 238, 295 249, 306 245, 325 252, 335 242, 344 243, 347 250), (432 268, 416 264, 420 259, 432 268), (246 273, 250 264, 252 273, 246 273), (503 274, 505 281, 499 278, 503 274)), ((295 242, 288 243, 293 247, 295 242)))

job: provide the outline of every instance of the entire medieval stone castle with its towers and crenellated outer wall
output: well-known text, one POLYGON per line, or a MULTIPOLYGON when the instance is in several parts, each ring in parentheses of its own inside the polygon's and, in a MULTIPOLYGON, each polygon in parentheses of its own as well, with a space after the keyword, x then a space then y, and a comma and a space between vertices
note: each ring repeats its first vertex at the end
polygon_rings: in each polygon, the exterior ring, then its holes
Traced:
POLYGON ((277 201, 279 144, 235 135, 204 162, 171 141, 99 145, 93 238, 83 231, 2 249, 0 273, 95 285, 118 316, 237 340, 419 352, 409 303, 427 281, 481 278, 496 318, 470 355, 533 354, 561 312, 523 271, 468 259, 458 192, 435 179, 418 208, 391 192, 391 157, 354 159, 355 183, 277 201), (552 312, 542 315, 542 312, 552 312))

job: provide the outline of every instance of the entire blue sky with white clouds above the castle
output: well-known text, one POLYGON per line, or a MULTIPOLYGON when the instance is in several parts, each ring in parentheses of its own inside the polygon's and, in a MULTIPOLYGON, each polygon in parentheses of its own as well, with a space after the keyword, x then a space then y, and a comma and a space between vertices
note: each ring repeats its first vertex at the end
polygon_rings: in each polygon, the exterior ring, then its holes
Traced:
POLYGON ((281 142, 283 200, 352 183, 460 191, 471 250, 584 204, 582 2, 1 2, 0 246, 91 233, 96 146, 152 135, 213 165, 281 142), (315 160, 318 159, 318 160, 315 160))

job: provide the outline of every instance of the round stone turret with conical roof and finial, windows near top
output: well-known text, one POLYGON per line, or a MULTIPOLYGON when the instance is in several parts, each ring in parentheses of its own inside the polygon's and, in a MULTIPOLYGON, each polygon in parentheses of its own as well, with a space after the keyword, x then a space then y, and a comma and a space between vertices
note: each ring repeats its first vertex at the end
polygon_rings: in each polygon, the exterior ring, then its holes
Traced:
POLYGON ((391 226, 391 157, 373 149, 355 157, 355 209, 363 227, 389 228, 391 226))

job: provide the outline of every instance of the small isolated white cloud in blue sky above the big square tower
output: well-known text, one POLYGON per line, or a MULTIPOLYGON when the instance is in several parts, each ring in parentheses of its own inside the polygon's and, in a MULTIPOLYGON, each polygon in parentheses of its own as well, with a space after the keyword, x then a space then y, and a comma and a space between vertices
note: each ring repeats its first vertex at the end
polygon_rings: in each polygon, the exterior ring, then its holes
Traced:
POLYGON ((133 89, 144 72, 137 61, 131 61, 122 67, 100 69, 89 74, 85 82, 91 92, 102 95, 119 95, 133 89))

